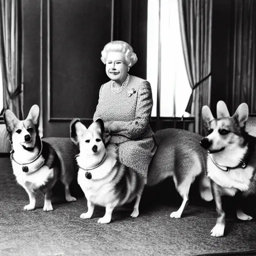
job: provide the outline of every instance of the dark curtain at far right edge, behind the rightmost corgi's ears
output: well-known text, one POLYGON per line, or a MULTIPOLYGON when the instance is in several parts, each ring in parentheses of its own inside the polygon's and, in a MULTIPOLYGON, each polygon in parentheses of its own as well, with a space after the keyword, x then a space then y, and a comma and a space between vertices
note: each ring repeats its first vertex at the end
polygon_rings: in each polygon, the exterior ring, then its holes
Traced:
POLYGON ((250 113, 256 113, 255 54, 256 1, 233 0, 229 52, 228 108, 246 102, 250 113))

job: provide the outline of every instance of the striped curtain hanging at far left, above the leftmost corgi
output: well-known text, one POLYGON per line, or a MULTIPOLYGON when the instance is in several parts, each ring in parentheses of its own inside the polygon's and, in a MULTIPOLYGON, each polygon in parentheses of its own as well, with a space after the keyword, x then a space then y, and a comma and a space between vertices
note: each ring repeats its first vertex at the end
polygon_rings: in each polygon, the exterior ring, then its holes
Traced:
POLYGON ((23 117, 19 79, 18 0, 0 0, 0 71, 4 108, 23 117))

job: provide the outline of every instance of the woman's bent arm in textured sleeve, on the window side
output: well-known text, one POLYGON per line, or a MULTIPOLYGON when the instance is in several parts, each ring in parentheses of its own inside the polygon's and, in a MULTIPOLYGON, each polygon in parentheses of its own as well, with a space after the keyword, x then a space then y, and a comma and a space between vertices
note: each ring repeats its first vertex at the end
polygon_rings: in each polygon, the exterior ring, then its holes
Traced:
POLYGON ((110 121, 105 123, 105 130, 111 135, 118 133, 129 139, 141 137, 148 127, 153 100, 151 86, 143 81, 138 89, 135 118, 132 121, 110 121))

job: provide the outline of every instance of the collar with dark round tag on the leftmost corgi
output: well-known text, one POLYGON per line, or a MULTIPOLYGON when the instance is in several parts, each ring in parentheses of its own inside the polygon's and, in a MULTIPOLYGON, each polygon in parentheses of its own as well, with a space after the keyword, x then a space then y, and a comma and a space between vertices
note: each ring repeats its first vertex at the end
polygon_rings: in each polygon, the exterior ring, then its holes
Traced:
POLYGON ((22 166, 21 169, 23 172, 29 171, 29 173, 32 173, 32 172, 38 170, 44 164, 44 161, 45 161, 45 159, 42 156, 42 141, 41 141, 41 139, 40 139, 40 143, 41 143, 40 152, 33 160, 31 160, 29 162, 25 162, 25 163, 19 163, 14 159, 13 152, 11 152, 11 154, 10 154, 10 159, 12 161, 14 161, 15 164, 17 164, 18 166, 22 166))

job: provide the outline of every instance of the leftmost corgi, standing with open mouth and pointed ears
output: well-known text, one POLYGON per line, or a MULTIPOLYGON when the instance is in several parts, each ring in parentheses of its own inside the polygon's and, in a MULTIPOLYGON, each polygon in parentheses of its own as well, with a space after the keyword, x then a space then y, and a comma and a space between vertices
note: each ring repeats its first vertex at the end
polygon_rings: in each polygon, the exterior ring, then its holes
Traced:
MULTIPOLYGON (((43 210, 52 210, 51 189, 57 179, 60 179, 65 186, 65 199, 75 201, 76 199, 69 192, 72 170, 61 168, 53 147, 50 143, 42 141, 38 134, 38 105, 30 108, 24 120, 19 120, 9 109, 4 111, 3 117, 12 146, 10 160, 13 173, 29 197, 29 204, 25 205, 24 209, 35 208, 35 192, 41 190, 45 195, 43 210)), ((67 139, 70 141, 69 138, 58 138, 58 143, 65 144, 67 139)))

